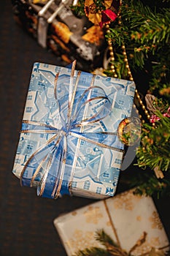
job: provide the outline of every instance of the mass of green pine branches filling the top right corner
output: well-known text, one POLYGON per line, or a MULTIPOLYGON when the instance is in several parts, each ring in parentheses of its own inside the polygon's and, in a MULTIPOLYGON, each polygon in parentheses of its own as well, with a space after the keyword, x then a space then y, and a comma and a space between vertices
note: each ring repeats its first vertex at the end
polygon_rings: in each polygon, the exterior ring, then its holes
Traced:
POLYGON ((113 43, 115 61, 112 64, 118 78, 128 78, 123 57, 120 57, 123 53, 120 46, 125 45, 132 74, 137 76, 139 69, 145 70, 146 64, 149 65, 150 69, 145 72, 150 72, 150 93, 170 98, 170 8, 158 8, 158 2, 151 8, 142 1, 123 1, 122 23, 112 23, 106 38, 113 43))

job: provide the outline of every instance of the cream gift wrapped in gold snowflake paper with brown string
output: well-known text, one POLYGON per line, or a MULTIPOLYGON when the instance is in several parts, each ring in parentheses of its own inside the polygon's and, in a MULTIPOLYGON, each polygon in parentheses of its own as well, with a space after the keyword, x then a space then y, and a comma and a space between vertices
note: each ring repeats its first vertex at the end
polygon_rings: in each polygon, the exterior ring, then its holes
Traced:
POLYGON ((90 246, 101 247, 94 238, 100 229, 127 252, 147 233, 144 244, 133 251, 136 256, 150 252, 152 247, 169 245, 152 197, 134 195, 133 190, 63 214, 54 219, 54 225, 67 255, 90 246))

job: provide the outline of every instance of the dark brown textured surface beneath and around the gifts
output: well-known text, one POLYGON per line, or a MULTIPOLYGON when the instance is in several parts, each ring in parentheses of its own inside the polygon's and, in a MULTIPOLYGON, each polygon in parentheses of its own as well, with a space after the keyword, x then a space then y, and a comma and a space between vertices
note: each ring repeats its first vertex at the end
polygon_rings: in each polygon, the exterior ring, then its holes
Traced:
MULTIPOLYGON (((32 65, 64 64, 15 23, 10 0, 0 4, 0 255, 66 256, 53 219, 94 200, 37 197, 12 174, 32 65)), ((117 193, 122 190, 120 182, 117 193)), ((155 200, 155 205, 170 238, 169 197, 155 200)))

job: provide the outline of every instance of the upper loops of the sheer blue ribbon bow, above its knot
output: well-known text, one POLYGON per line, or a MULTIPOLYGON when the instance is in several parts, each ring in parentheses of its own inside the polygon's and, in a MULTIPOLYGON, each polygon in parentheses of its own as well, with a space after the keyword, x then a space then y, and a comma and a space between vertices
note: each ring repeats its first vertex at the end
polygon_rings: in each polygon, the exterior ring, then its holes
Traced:
MULTIPOLYGON (((67 93, 63 95, 63 97, 58 97, 58 79, 59 73, 55 76, 55 100, 58 105, 59 115, 62 121, 62 124, 66 126, 66 129, 72 129, 74 127, 81 127, 88 124, 96 123, 101 119, 105 118, 109 115, 111 110, 111 102, 107 97, 104 89, 100 86, 93 86, 94 78, 91 80, 91 85, 86 90, 77 90, 77 85, 80 80, 80 72, 78 72, 76 76, 76 80, 74 82, 74 69, 75 69, 75 61, 72 64, 72 71, 69 80, 69 89, 67 89, 67 93), (67 99, 66 99, 67 97, 67 99), (61 102, 65 102, 67 100, 67 108, 66 104, 61 106, 61 102), (91 109, 95 109, 95 113, 91 115, 91 109)), ((61 80, 60 83, 61 85, 61 80)), ((61 90, 61 89, 60 89, 61 90)))

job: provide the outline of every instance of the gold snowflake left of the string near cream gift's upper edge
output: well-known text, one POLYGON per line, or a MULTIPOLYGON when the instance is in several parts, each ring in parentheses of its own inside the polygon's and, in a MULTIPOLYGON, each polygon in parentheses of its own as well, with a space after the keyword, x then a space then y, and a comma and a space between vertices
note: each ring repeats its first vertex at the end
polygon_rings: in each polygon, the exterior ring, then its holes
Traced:
POLYGON ((101 209, 98 206, 89 206, 88 209, 83 213, 85 221, 87 223, 98 224, 99 219, 103 218, 101 209))

